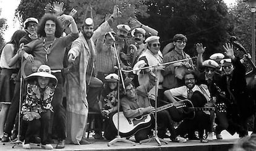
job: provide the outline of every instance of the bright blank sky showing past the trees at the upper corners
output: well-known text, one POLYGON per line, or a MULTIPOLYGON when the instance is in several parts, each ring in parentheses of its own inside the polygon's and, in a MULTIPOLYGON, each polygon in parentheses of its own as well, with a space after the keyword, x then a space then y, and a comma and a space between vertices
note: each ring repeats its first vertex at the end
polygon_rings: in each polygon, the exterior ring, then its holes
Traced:
MULTIPOLYGON (((226 2, 228 6, 235 4, 235 0, 223 1, 226 2)), ((20 23, 17 20, 14 20, 15 9, 19 6, 19 3, 20 0, 0 0, 0 8, 2 9, 0 18, 6 18, 7 25, 9 26, 9 28, 4 32, 5 41, 9 41, 14 31, 21 28, 20 23)))

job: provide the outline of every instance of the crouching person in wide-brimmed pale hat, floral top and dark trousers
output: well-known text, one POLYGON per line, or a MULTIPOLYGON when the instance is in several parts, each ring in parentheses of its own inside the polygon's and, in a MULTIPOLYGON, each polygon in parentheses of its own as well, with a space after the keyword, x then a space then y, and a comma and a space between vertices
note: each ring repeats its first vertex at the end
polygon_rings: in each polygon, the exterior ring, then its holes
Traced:
POLYGON ((34 134, 40 131, 41 147, 43 149, 53 149, 49 144, 48 132, 49 121, 53 106, 54 89, 58 80, 51 75, 48 65, 41 65, 38 72, 32 73, 25 79, 28 82, 27 96, 22 104, 22 119, 27 123, 28 128, 25 133, 25 140, 22 144, 23 149, 30 149, 30 142, 33 142, 34 134))

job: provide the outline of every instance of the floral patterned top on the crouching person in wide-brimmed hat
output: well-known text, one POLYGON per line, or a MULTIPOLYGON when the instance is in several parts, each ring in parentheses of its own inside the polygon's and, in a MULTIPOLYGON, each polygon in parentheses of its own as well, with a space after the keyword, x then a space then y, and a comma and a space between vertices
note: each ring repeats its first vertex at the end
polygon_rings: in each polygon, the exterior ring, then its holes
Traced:
POLYGON ((53 100, 54 88, 46 86, 41 89, 37 84, 27 85, 27 96, 22 104, 22 114, 24 120, 32 121, 39 119, 40 113, 46 110, 53 112, 51 101, 53 100))

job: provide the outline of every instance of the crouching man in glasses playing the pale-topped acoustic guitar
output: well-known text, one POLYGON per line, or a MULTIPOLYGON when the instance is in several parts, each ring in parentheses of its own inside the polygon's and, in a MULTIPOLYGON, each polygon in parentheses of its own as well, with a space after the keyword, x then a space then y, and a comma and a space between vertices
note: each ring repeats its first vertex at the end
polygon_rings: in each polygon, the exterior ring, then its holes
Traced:
MULTIPOLYGON (((121 99, 121 106, 122 110, 124 112, 124 116, 126 118, 135 118, 140 115, 145 115, 148 113, 154 113, 155 108, 150 105, 150 101, 148 100, 148 94, 147 92, 153 88, 155 85, 155 75, 150 71, 148 74, 149 76, 149 82, 146 85, 139 86, 138 88, 134 88, 134 85, 132 82, 125 83, 126 87, 126 93, 125 96, 121 99)), ((175 129, 173 128, 173 121, 171 120, 171 116, 166 110, 163 110, 161 112, 158 112, 158 125, 160 127, 165 126, 165 128, 168 128, 171 136, 171 141, 174 142, 186 142, 187 140, 177 136, 175 129)), ((151 120, 153 121, 153 120, 151 120)), ((152 124, 151 124, 152 125, 152 124)), ((148 139, 148 135, 150 135, 151 128, 144 128, 140 129, 135 133, 135 141, 139 142, 143 139, 148 139)), ((165 134, 165 131, 159 131, 159 134, 163 137, 163 134, 165 134)))

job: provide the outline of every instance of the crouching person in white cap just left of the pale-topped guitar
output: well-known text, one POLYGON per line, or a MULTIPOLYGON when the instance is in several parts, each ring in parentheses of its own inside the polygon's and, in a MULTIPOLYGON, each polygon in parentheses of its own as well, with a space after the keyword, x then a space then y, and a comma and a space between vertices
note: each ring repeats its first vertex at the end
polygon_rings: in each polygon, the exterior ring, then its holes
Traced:
MULTIPOLYGON (((114 125, 109 120, 111 120, 114 113, 117 112, 117 83, 119 78, 116 73, 111 73, 105 77, 105 80, 106 87, 101 93, 99 106, 101 109, 101 115, 104 118, 104 137, 111 140, 117 135, 114 125)), ((102 125, 102 123, 98 123, 98 126, 102 125)), ((101 129, 99 129, 100 131, 95 132, 95 136, 100 134, 100 137, 102 137, 101 129)))

